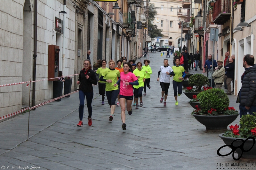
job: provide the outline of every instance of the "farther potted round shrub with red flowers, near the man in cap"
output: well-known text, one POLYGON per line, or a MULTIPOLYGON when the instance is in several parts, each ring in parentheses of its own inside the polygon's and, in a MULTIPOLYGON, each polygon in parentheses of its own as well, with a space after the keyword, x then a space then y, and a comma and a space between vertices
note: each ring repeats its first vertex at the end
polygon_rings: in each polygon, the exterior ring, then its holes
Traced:
POLYGON ((202 86, 209 85, 209 80, 203 74, 193 74, 188 80, 188 84, 190 85, 187 87, 187 90, 184 94, 189 98, 193 99, 193 95, 197 95, 199 92, 202 91, 202 86), (193 90, 193 86, 196 86, 196 90, 193 90))

